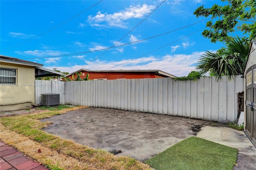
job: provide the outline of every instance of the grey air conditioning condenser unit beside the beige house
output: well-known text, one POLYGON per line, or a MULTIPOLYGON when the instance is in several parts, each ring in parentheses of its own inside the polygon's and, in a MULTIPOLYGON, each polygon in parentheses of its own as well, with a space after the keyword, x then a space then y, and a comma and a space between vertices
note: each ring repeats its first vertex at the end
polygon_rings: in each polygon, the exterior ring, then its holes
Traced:
POLYGON ((41 105, 43 106, 53 106, 60 105, 60 94, 46 93, 41 94, 41 105))

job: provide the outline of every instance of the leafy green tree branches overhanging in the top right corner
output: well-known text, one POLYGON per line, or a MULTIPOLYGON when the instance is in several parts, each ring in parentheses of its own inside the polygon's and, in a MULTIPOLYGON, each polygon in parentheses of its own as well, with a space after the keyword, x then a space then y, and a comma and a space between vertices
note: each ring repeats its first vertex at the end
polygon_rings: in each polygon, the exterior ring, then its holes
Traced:
POLYGON ((214 4, 212 8, 198 7, 194 11, 196 17, 211 16, 206 23, 206 29, 202 36, 209 38, 211 42, 228 42, 230 34, 237 30, 245 36, 244 40, 250 42, 256 38, 256 0, 222 0, 227 5, 214 4), (237 30, 236 30, 237 29, 237 30))

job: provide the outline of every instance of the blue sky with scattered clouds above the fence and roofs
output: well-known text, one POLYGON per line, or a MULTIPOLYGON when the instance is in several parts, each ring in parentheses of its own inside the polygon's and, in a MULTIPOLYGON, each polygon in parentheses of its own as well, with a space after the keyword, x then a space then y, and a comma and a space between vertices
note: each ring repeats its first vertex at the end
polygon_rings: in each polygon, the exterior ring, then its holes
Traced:
POLYGON ((196 18, 193 12, 201 5, 211 7, 223 2, 162 2, 1 0, 0 53, 69 73, 81 68, 159 69, 186 76, 195 70, 198 58, 206 50, 216 51, 224 46, 202 37, 208 20, 196 18), (191 24, 194 25, 188 26, 191 24), (188 27, 182 28, 185 26, 188 27), (106 51, 109 47, 112 48, 106 51))

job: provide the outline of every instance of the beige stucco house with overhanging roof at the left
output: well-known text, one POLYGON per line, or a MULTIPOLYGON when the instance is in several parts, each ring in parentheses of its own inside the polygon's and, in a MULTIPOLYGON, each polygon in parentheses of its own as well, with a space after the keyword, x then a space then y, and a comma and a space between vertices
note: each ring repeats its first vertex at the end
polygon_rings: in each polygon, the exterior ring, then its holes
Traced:
POLYGON ((35 78, 63 75, 42 66, 39 63, 0 55, 0 111, 33 107, 35 78))

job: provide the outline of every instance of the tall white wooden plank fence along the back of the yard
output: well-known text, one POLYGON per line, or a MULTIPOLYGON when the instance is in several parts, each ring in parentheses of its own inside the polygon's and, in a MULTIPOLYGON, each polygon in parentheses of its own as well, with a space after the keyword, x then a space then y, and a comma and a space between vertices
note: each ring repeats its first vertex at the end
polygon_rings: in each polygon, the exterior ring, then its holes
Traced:
POLYGON ((52 81, 52 86, 48 89, 36 86, 37 98, 40 93, 60 93, 63 97, 62 104, 178 115, 214 121, 236 121, 237 93, 242 91, 241 76, 231 81, 224 76, 218 82, 215 77, 201 77, 197 81, 151 78, 52 81))

